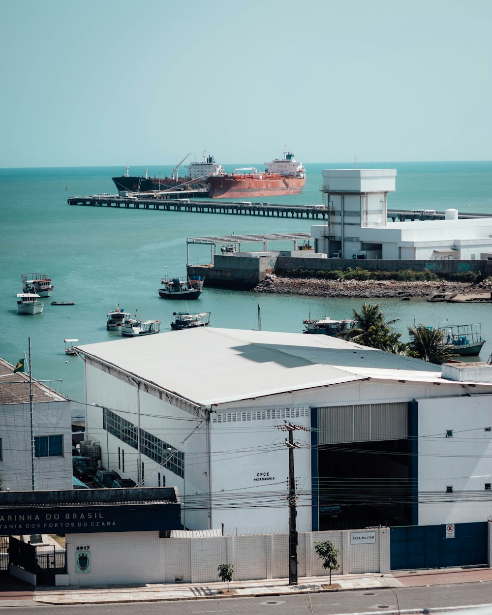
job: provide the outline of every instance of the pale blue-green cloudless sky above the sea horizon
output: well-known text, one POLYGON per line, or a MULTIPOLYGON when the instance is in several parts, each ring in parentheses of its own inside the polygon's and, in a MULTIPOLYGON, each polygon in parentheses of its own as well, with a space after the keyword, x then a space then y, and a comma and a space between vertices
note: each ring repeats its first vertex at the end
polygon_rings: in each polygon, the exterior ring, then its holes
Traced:
POLYGON ((490 0, 0 0, 0 167, 490 160, 490 0))

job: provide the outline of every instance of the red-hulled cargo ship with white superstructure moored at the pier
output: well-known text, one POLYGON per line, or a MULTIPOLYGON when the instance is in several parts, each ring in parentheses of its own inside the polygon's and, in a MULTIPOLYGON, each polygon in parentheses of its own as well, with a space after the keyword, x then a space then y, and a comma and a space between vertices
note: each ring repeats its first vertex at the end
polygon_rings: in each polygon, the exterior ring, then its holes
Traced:
POLYGON ((212 199, 241 199, 256 196, 300 194, 306 185, 306 170, 296 162, 294 154, 284 149, 284 157, 265 162, 266 170, 258 173, 254 167, 236 169, 207 178, 212 199))

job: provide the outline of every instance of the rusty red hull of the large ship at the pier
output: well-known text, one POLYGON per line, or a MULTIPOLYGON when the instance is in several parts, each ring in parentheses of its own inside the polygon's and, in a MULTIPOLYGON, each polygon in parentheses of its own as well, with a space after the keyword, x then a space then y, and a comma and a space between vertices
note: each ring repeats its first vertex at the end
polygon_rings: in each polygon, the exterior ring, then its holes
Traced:
POLYGON ((300 194, 306 185, 305 177, 269 177, 262 175, 217 175, 207 179, 212 199, 242 199, 257 196, 300 194))

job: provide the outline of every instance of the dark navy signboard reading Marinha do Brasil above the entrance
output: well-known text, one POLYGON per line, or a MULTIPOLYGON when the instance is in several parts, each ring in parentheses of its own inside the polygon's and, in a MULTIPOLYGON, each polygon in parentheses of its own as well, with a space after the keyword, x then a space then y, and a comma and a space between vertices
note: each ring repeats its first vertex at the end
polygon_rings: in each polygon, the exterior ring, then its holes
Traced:
POLYGON ((0 507, 0 535, 180 530, 181 505, 0 507))

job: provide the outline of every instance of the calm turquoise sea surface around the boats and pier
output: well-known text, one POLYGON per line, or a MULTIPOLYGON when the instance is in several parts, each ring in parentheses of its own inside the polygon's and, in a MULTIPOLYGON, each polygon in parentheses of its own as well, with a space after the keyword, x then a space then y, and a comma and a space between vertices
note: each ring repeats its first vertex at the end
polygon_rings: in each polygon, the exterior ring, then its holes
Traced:
MULTIPOLYGON (((224 165, 226 170, 251 163, 224 165)), ((253 164, 263 169, 261 163, 253 164)), ((308 181, 302 194, 270 197, 285 204, 321 203, 322 169, 351 168, 353 164, 307 164, 308 181)), ((436 209, 492 213, 492 162, 383 162, 360 168, 397 169, 396 192, 390 208, 436 209)), ((130 167, 130 173, 143 173, 130 167)), ((148 167, 150 175, 169 175, 171 167, 148 167)), ((68 196, 115 192, 111 177, 121 167, 67 169, 0 169, 1 271, 0 356, 16 363, 27 352, 31 338, 35 378, 76 402, 84 402, 82 361, 66 357, 64 338, 90 344, 118 338, 106 330, 106 314, 116 308, 138 313, 143 319, 161 320, 170 330, 170 315, 179 302, 157 294, 164 274, 186 272, 186 237, 309 231, 311 220, 256 218, 185 212, 154 212, 99 207, 69 207, 68 196), (43 273, 55 289, 44 298, 40 315, 17 314, 16 294, 22 292, 20 274, 43 273), (76 301, 76 306, 52 306, 51 301, 76 301)), ((272 246, 273 247, 273 246, 272 246)), ((192 263, 208 263, 210 248, 191 251, 192 263)), ((311 312, 345 318, 361 300, 316 299, 290 295, 263 295, 205 288, 189 309, 212 312, 213 327, 256 328, 257 304, 261 328, 301 332, 311 312)), ((414 323, 482 323, 488 340, 482 360, 492 352, 490 304, 432 304, 427 301, 381 300, 388 319, 400 318, 396 328, 406 339, 414 323)), ((175 335, 180 335, 179 332, 175 335)), ((74 407, 76 407, 74 405, 74 407)))

